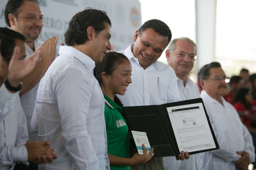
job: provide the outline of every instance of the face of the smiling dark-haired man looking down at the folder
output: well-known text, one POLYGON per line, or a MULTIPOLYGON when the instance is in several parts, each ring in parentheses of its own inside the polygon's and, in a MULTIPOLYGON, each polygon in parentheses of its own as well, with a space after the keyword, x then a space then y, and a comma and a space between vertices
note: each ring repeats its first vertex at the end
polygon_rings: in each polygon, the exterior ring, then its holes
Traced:
POLYGON ((161 36, 153 29, 147 28, 141 36, 137 30, 133 41, 135 42, 132 48, 134 57, 138 58, 141 67, 146 69, 161 56, 167 47, 168 37, 161 36))

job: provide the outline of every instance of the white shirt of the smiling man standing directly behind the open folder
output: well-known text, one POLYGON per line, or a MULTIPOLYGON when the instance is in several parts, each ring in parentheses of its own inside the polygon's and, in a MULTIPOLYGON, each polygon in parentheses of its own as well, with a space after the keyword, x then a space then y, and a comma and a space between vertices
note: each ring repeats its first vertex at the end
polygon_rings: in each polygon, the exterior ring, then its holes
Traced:
POLYGON ((118 51, 128 57, 132 66, 132 83, 125 95, 118 95, 124 106, 159 105, 180 101, 177 79, 174 70, 160 61, 155 61, 145 70, 138 58, 131 52, 132 45, 118 51))

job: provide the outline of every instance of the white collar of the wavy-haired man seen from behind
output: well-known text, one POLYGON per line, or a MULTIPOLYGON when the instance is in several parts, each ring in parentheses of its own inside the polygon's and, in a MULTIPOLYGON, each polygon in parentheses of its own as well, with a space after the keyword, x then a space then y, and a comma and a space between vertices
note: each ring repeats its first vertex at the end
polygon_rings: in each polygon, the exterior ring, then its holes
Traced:
POLYGON ((60 46, 59 54, 69 54, 76 58, 78 58, 89 70, 89 72, 92 72, 92 70, 95 67, 95 61, 92 60, 89 56, 82 53, 81 51, 77 50, 76 48, 70 47, 70 46, 60 46))

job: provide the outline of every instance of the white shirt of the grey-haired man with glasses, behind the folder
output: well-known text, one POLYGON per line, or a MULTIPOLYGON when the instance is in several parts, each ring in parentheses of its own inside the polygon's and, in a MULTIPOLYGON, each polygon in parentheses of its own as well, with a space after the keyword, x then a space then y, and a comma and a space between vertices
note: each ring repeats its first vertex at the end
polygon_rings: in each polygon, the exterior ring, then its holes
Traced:
MULTIPOLYGON (((178 88, 180 92, 180 100, 190 100, 200 98, 199 90, 196 84, 190 80, 188 76, 185 79, 186 86, 183 81, 177 77, 178 88)), ((193 169, 200 170, 200 153, 190 155, 189 159, 183 161, 177 160, 174 156, 163 157, 164 170, 193 169)))

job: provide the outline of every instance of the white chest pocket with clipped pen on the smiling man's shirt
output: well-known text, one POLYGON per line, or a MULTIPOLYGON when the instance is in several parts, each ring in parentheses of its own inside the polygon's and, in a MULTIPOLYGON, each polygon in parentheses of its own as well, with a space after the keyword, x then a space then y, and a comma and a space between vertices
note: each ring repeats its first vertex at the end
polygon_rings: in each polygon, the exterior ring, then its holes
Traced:
POLYGON ((155 78, 156 96, 159 101, 167 103, 167 90, 169 81, 166 79, 155 78))

